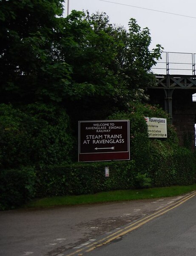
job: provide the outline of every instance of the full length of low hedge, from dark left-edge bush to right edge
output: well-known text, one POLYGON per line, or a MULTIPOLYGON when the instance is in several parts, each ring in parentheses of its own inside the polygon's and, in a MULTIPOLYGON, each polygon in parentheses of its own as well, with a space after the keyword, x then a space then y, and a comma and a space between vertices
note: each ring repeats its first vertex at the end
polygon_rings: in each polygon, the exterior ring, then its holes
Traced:
POLYGON ((81 195, 149 186, 188 185, 195 182, 195 158, 187 148, 151 140, 149 165, 138 169, 134 160, 73 163, 9 169, 0 172, 0 209, 10 209, 33 197, 81 195), (105 177, 105 167, 110 176, 105 177))

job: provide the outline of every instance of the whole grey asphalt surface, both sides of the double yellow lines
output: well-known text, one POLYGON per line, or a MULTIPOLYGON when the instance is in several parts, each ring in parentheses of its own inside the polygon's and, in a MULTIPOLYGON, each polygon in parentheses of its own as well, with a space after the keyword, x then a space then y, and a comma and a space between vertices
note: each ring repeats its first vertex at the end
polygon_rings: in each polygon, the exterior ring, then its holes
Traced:
POLYGON ((170 209, 189 196, 192 196, 192 193, 175 198, 3 211, 0 212, 0 256, 195 256, 196 247, 193 247, 193 244, 196 246, 196 236, 191 236, 194 231, 196 235, 196 197, 164 215, 156 216, 157 213, 170 209), (172 213, 172 217, 168 217, 168 222, 166 217, 172 213), (152 218, 152 215, 153 219, 143 225, 145 220, 152 218), (131 231, 133 233, 127 232, 130 225, 134 228, 140 224, 142 227, 131 231), (143 229, 145 230, 142 231, 143 229), (86 252, 87 246, 89 248, 95 241, 104 240, 108 236, 113 238, 115 233, 117 237, 111 239, 112 241, 107 241, 103 245, 100 242, 86 252), (173 239, 168 238, 170 233, 173 239), (180 234, 183 235, 178 239, 180 234), (129 236, 133 237, 130 239, 129 236), (188 241, 191 244, 194 254, 156 254, 157 251, 155 254, 147 254, 148 244, 151 248, 161 248, 164 252, 165 244, 169 241, 173 241, 173 244, 182 244, 183 237, 187 244, 188 241))

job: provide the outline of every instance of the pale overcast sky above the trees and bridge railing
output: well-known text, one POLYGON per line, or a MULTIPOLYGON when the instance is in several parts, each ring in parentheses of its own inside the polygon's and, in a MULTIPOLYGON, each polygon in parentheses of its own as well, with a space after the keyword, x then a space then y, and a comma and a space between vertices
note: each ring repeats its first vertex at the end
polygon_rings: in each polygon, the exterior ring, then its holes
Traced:
POLYGON ((125 28, 133 17, 141 28, 150 29, 150 49, 161 44, 167 52, 196 53, 196 0, 69 0, 69 12, 73 9, 106 12, 111 23, 125 28))

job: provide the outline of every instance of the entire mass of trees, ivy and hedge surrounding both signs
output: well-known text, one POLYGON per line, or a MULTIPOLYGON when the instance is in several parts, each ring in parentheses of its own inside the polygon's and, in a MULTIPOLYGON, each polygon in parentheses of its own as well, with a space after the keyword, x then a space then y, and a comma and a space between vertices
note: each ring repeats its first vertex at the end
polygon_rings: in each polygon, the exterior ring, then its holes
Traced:
POLYGON ((62 2, 0 1, 0 196, 8 195, 1 208, 33 196, 33 169, 23 166, 36 168, 37 196, 192 183, 190 138, 180 148, 168 122, 167 139, 149 139, 144 116, 168 116, 140 103, 156 84, 151 67, 162 47, 150 52, 149 29, 133 18, 128 31, 105 13, 64 18, 62 2), (107 163, 109 178, 106 163, 68 164, 78 120, 108 116, 130 120, 131 161, 107 163))

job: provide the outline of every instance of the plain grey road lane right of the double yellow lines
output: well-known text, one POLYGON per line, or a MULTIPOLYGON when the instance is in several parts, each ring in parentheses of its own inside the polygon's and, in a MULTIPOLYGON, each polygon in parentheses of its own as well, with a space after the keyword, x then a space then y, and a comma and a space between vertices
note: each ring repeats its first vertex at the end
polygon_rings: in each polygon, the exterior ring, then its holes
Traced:
POLYGON ((196 256, 196 197, 88 256, 196 256))

